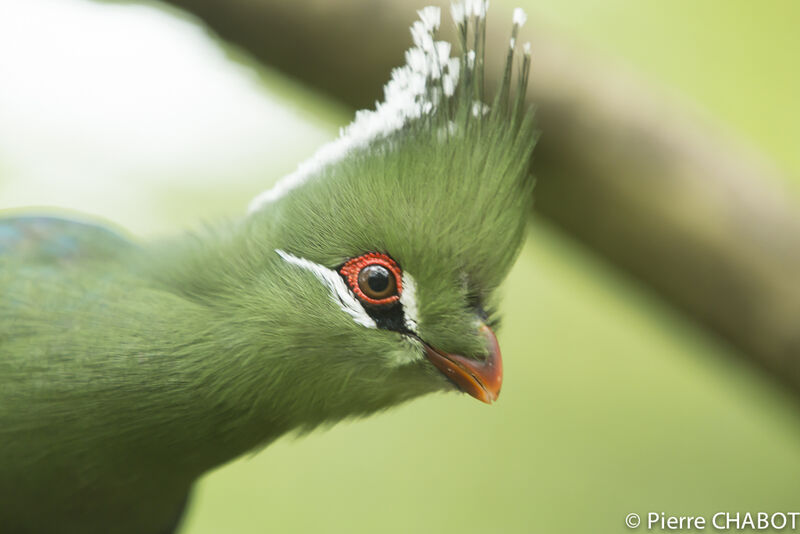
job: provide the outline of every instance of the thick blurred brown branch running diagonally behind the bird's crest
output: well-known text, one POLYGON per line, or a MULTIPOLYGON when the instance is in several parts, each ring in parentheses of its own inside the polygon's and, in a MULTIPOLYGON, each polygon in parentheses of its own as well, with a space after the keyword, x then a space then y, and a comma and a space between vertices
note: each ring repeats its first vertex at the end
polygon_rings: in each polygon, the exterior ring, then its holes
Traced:
MULTIPOLYGON (((355 108, 381 96, 415 18, 403 0, 166 1, 355 108)), ((493 75, 506 15, 491 13, 493 75)), ((535 209, 800 389, 800 209, 778 172, 613 65, 526 33, 535 209)))

